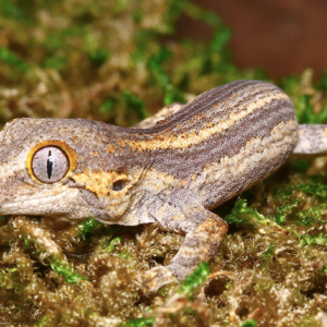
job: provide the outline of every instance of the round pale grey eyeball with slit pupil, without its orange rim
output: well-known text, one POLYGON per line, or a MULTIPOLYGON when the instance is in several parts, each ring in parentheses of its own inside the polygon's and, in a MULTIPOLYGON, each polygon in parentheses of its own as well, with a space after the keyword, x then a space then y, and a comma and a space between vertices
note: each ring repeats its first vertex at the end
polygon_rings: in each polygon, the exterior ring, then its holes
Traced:
POLYGON ((37 180, 52 184, 61 181, 70 169, 66 154, 57 146, 46 146, 32 158, 32 170, 37 180))

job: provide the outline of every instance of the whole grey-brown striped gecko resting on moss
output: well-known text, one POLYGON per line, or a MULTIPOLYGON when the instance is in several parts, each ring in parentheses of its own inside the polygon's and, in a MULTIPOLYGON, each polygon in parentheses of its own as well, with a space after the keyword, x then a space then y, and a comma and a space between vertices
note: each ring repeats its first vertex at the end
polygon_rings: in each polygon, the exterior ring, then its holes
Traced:
POLYGON ((327 154, 327 125, 299 125, 290 98, 237 81, 134 128, 84 119, 15 119, 0 133, 0 215, 50 215, 185 234, 146 293, 209 261, 227 222, 210 209, 272 174, 291 155, 327 154))

